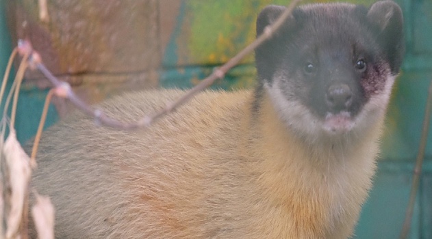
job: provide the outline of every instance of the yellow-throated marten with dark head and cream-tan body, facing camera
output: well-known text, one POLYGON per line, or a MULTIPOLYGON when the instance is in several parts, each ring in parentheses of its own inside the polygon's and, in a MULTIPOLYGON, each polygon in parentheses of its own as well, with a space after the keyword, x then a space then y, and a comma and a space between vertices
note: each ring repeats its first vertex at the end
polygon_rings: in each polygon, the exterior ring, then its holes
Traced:
MULTIPOLYGON (((257 33, 283 10, 265 8, 257 33)), ((392 1, 303 5, 255 52, 255 90, 203 92, 134 132, 75 114, 43 135, 31 185, 57 238, 347 238, 403 48, 392 1)), ((139 119, 182 94, 100 108, 139 119)))

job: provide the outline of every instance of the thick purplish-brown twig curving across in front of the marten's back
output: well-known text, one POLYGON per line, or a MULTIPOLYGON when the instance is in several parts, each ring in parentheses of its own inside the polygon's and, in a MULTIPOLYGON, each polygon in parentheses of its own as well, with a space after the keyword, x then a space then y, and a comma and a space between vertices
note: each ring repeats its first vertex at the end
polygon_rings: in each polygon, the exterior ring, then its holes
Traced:
MULTIPOLYGON (((155 120, 159 119, 163 115, 166 115, 166 113, 170 113, 177 109, 177 107, 181 106, 182 104, 186 103, 190 98, 194 97, 194 95, 203 89, 209 87, 209 85, 212 85, 214 81, 217 79, 223 79, 225 74, 233 68, 233 66, 236 66, 238 62, 240 62, 246 55, 249 53, 252 53, 257 46, 262 44, 265 40, 268 38, 271 38, 272 35, 283 25, 284 21, 288 18, 288 16, 291 15, 292 10, 294 10, 296 4, 301 0, 294 0, 290 3, 288 8, 277 18, 275 23, 272 25, 268 25, 261 36, 259 36, 254 42, 252 42, 249 46, 246 46, 240 53, 238 53, 235 57, 231 58, 226 64, 223 66, 220 66, 220 68, 216 68, 212 74, 207 76, 207 78, 203 79, 201 83, 190 89, 190 91, 179 98, 175 102, 170 102, 166 105, 166 107, 157 113, 154 113, 153 115, 145 116, 142 119, 140 119, 138 122, 133 123, 125 123, 125 122, 118 122, 114 119, 110 119, 100 111, 99 109, 93 109, 92 107, 89 107, 84 101, 82 101, 80 98, 78 98, 75 93, 73 93, 71 86, 68 83, 64 83, 62 81, 59 81, 49 70, 45 67, 44 64, 42 64, 42 61, 40 61, 40 57, 31 57, 31 59, 34 59, 34 61, 30 62, 29 65, 31 67, 37 68, 42 74, 51 81, 51 83, 54 85, 54 87, 62 87, 62 89, 67 92, 67 98, 75 104, 76 107, 81 109, 81 111, 84 111, 84 113, 91 115, 96 119, 97 123, 104 124, 107 126, 112 126, 114 128, 121 128, 125 130, 130 130, 134 128, 140 128, 144 126, 149 126, 151 123, 155 122, 155 120)), ((38 56, 38 55, 37 55, 38 56)))

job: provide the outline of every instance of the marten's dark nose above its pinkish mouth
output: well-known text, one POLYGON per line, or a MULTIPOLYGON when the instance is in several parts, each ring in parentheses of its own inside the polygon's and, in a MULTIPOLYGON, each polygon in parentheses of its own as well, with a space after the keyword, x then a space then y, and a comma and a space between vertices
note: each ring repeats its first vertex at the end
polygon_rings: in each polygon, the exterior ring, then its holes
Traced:
POLYGON ((333 112, 348 109, 353 102, 353 92, 346 84, 331 85, 326 94, 327 106, 333 112))

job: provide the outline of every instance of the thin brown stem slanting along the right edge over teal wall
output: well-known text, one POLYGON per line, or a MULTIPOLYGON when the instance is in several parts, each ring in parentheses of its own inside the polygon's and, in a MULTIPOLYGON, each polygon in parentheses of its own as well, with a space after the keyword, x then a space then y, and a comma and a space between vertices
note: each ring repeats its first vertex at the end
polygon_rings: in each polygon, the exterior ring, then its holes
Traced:
POLYGON ((429 122, 431 121, 431 111, 432 111, 432 81, 429 85, 429 91, 426 102, 426 109, 424 111, 422 135, 420 137, 420 145, 418 148, 418 154, 416 158, 416 167, 414 168, 414 175, 411 184, 411 192, 409 193, 409 202, 407 207, 407 212, 405 213, 405 221, 403 223, 401 231, 401 239, 405 239, 409 233, 409 227, 411 227, 411 219, 414 213, 414 205, 416 204, 416 196, 418 191, 418 186, 420 184, 420 175, 422 173, 422 165, 424 160, 424 152, 426 150, 427 136, 429 132, 429 122))

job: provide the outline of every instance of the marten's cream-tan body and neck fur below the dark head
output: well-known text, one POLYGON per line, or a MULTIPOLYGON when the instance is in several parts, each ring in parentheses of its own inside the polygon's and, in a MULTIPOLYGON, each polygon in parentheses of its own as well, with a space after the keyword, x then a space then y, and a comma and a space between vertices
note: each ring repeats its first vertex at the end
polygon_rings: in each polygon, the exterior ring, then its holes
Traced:
MULTIPOLYGON (((181 94, 125 94, 103 110, 135 120, 181 94)), ((351 236, 385 109, 360 137, 312 146, 294 137, 266 94, 259 112, 252 102, 249 91, 204 92, 144 130, 97 127, 81 115, 54 126, 32 186, 53 200, 56 237, 351 236)))

